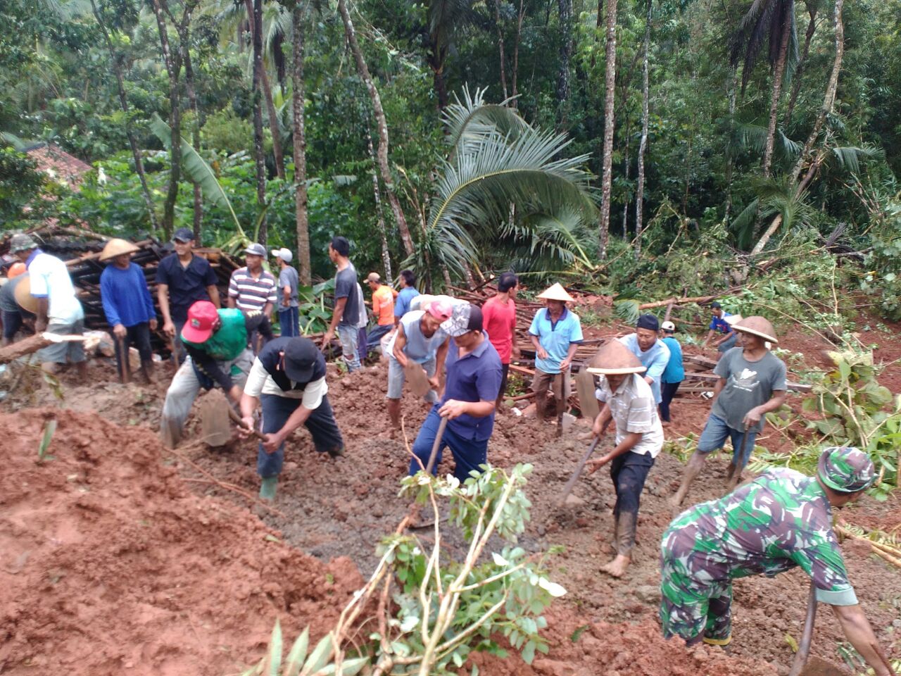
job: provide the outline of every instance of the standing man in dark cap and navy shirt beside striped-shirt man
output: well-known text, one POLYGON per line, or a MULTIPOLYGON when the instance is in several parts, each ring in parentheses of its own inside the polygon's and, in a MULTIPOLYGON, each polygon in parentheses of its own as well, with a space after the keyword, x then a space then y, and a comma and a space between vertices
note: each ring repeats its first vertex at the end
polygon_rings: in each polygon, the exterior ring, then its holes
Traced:
POLYGON ((172 236, 175 253, 159 261, 157 269, 157 297, 163 315, 163 333, 172 338, 178 362, 185 361, 187 352, 181 344, 181 329, 187 322, 187 308, 198 300, 212 301, 221 307, 216 273, 203 256, 194 253, 194 233, 178 228, 172 236))

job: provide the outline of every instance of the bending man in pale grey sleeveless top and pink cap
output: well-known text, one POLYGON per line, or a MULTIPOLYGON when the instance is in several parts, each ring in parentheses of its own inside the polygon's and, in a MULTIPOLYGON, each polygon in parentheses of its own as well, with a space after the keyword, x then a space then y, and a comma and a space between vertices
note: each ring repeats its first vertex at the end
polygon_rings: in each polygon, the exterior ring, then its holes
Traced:
MULTIPOLYGON (((397 331, 387 344, 388 353, 388 417, 391 434, 400 430, 400 400, 404 394, 405 370, 410 361, 419 364, 432 389, 423 397, 438 401, 439 378, 451 342, 441 323, 451 318, 451 303, 446 297, 435 298, 423 310, 410 310, 397 324, 397 331)), ((392 307, 392 312, 394 308, 392 307)))

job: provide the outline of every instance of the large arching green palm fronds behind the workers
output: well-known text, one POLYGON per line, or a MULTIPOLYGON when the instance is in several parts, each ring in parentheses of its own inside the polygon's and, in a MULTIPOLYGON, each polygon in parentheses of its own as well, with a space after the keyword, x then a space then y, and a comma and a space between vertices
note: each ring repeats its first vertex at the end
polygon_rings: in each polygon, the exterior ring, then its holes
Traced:
POLYGON ((587 155, 561 159, 565 135, 535 129, 514 109, 487 105, 483 94, 464 89, 462 102, 455 96, 444 112, 450 152, 435 172, 423 237, 404 264, 425 279, 441 270, 463 278, 468 265, 498 254, 519 269, 593 269, 587 155))

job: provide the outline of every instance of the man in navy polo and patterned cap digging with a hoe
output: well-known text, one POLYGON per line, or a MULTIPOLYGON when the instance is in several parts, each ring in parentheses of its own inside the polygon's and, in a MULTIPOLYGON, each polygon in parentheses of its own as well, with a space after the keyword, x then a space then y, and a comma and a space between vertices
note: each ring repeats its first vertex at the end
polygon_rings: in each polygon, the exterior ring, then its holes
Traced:
POLYGON ((469 303, 454 306, 441 330, 453 338, 444 362, 447 376, 444 397, 426 416, 413 444, 410 475, 429 462, 441 418, 448 419, 432 472, 437 473, 441 452, 451 449, 454 476, 465 481, 469 472, 487 463, 488 438, 495 426, 495 403, 501 388, 501 358, 482 330, 482 311, 469 303))

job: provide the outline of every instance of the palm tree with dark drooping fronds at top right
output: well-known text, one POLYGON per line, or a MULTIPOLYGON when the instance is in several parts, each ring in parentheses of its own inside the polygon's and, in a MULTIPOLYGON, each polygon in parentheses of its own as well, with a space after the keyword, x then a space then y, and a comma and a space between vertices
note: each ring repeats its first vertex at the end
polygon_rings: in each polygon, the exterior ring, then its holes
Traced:
POLYGON ((797 35, 795 0, 753 0, 733 33, 732 62, 742 62, 742 94, 757 59, 763 41, 769 40, 768 60, 773 72, 772 95, 769 99, 769 128, 763 151, 763 176, 769 178, 776 138, 779 96, 783 81, 791 78, 797 64, 797 35))

